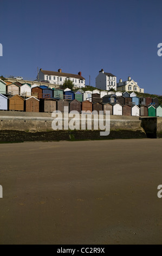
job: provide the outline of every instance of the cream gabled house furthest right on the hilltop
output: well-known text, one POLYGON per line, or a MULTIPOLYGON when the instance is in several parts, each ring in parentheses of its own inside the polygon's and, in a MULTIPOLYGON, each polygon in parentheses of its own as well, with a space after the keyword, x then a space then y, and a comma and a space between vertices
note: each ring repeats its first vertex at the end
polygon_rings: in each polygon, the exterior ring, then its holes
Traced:
POLYGON ((122 82, 122 79, 119 80, 119 83, 116 84, 117 90, 126 90, 127 92, 139 92, 144 93, 144 89, 140 88, 137 84, 137 82, 134 82, 133 79, 131 79, 130 76, 128 76, 128 80, 122 82))

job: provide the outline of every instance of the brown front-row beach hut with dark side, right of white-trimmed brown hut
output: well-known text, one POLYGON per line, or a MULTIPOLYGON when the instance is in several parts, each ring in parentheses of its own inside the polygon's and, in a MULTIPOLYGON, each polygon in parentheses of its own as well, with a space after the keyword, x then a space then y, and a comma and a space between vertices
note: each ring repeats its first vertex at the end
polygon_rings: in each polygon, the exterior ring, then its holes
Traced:
POLYGON ((40 99, 40 112, 56 111, 56 99, 40 99))

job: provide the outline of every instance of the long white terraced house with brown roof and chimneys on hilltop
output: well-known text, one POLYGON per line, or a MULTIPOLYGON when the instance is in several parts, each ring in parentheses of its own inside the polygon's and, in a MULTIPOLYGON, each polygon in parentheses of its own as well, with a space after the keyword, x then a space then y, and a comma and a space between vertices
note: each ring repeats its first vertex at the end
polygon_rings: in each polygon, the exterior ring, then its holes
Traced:
POLYGON ((71 80, 75 87, 85 87, 86 80, 84 77, 82 77, 81 72, 74 75, 63 73, 61 69, 59 69, 57 72, 40 69, 37 75, 37 81, 49 81, 49 83, 57 84, 59 86, 62 86, 66 79, 71 80))

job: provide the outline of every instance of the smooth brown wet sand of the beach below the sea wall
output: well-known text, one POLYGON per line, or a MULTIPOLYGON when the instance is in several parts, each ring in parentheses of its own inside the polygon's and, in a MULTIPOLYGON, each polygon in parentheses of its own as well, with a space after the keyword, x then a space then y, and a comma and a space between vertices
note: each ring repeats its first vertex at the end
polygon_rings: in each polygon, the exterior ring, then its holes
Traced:
POLYGON ((0 243, 161 244, 162 139, 0 144, 0 243))

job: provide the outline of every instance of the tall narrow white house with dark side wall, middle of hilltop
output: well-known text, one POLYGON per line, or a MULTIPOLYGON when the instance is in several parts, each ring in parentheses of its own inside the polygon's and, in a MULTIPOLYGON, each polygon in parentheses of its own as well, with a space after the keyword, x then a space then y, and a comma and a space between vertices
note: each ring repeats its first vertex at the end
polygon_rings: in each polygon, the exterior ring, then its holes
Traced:
POLYGON ((116 76, 101 69, 99 75, 95 78, 95 87, 102 90, 116 90, 116 76))

